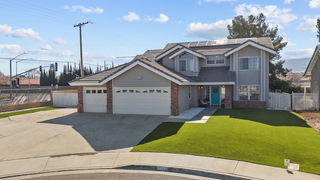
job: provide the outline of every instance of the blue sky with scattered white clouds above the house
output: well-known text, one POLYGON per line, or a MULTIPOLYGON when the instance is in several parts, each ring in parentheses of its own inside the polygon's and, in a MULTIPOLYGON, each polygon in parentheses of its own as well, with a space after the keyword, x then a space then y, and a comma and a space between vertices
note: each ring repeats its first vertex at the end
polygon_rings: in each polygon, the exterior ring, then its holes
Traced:
POLYGON ((80 22, 92 22, 81 28, 82 54, 96 69, 166 43, 224 39, 235 16, 260 12, 288 42, 282 59, 311 57, 320 0, 0 0, 0 71, 9 74, 5 58, 23 52, 17 58, 32 60, 17 62, 17 73, 58 61, 59 74, 67 61, 78 63, 80 22))

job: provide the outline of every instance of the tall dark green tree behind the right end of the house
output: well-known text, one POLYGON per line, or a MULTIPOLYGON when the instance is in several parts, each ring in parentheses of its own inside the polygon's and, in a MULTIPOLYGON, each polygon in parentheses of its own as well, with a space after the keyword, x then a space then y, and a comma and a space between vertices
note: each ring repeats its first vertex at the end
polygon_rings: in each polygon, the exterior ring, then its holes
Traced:
POLYGON ((257 16, 249 15, 245 19, 242 15, 234 17, 231 25, 227 25, 229 31, 228 39, 230 38, 249 38, 249 37, 270 37, 276 53, 269 58, 269 88, 274 90, 277 76, 285 76, 290 69, 283 68, 284 60, 281 58, 279 52, 286 46, 287 42, 283 42, 283 38, 277 34, 278 28, 269 28, 269 24, 265 23, 266 17, 263 13, 257 16), (276 63, 272 63, 279 60, 276 63), (272 85, 273 84, 273 85, 272 85))

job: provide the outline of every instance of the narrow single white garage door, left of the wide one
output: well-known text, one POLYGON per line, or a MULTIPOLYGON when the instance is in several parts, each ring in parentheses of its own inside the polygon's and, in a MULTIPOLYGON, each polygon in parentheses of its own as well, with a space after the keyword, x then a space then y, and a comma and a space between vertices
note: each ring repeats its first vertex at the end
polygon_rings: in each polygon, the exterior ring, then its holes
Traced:
POLYGON ((83 88, 83 111, 106 112, 106 89, 96 87, 83 88))

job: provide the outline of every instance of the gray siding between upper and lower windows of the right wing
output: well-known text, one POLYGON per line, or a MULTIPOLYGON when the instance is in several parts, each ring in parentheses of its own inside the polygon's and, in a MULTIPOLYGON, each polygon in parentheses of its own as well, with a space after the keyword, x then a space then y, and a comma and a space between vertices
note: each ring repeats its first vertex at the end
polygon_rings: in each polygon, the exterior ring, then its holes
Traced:
POLYGON ((259 85, 260 70, 238 70, 238 85, 259 85))

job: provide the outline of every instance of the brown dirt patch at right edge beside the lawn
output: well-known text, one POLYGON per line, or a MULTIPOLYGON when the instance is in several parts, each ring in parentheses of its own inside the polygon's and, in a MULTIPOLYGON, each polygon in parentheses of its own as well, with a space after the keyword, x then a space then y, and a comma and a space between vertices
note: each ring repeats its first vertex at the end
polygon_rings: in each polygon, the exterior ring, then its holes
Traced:
POLYGON ((296 110, 299 114, 318 134, 320 134, 320 111, 296 110))

